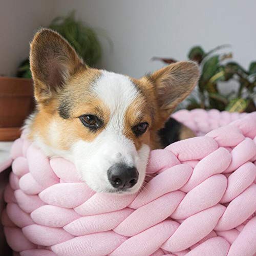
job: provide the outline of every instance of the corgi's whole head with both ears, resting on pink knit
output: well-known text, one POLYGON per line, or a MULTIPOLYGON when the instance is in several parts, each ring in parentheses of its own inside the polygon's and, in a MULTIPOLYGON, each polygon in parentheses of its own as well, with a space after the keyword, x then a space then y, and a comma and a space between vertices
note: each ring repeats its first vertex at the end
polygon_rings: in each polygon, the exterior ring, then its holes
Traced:
POLYGON ((57 33, 40 30, 31 43, 37 111, 29 138, 49 156, 72 161, 92 189, 135 193, 145 178, 157 131, 199 77, 178 62, 140 79, 87 67, 57 33))

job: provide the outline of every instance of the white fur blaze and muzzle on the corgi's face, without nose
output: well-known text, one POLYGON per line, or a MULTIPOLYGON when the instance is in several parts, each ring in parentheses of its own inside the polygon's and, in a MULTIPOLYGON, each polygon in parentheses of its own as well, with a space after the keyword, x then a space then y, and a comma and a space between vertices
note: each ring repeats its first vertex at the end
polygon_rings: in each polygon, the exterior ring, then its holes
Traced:
MULTIPOLYGON (((73 162, 87 184, 98 192, 115 192, 108 180, 109 167, 118 162, 135 166, 139 172, 137 184, 126 193, 135 193, 141 187, 150 147, 143 144, 140 150, 130 139, 123 135, 124 117, 127 108, 133 103, 138 92, 133 82, 126 76, 102 71, 102 76, 95 82, 94 93, 110 109, 110 121, 105 129, 92 141, 79 140, 74 142, 70 150, 57 150, 59 134, 58 125, 53 121, 49 125, 48 139, 52 146, 44 143, 40 134, 35 134, 34 143, 48 156, 61 156, 73 162)), ((25 128, 33 122, 32 116, 26 122, 25 128)), ((84 127, 86 129, 86 127, 84 127)))

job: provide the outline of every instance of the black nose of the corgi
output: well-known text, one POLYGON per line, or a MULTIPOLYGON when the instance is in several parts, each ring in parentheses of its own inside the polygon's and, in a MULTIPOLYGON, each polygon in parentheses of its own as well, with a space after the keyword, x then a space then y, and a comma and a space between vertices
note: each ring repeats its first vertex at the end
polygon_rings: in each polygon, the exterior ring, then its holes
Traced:
POLYGON ((139 178, 136 167, 124 163, 116 163, 108 169, 108 179, 115 188, 131 188, 139 178))

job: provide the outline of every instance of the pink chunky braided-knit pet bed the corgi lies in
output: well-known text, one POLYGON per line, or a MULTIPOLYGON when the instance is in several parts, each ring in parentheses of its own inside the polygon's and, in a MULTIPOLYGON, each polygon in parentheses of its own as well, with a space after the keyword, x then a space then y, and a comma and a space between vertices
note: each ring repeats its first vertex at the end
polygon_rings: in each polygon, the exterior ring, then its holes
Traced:
POLYGON ((256 113, 173 116, 201 137, 152 151, 136 195, 95 193, 72 163, 16 140, 2 216, 14 254, 255 255, 256 113))

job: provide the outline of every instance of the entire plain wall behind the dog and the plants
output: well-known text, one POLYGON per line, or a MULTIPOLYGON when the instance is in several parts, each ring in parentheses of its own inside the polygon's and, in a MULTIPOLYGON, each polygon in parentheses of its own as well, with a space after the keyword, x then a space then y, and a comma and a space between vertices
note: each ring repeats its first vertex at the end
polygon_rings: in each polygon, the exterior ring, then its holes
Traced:
POLYGON ((231 44, 245 67, 256 59, 254 0, 0 0, 0 74, 14 75, 35 29, 72 9, 112 39, 100 66, 115 72, 139 77, 162 67, 153 56, 184 60, 197 44, 231 44))

